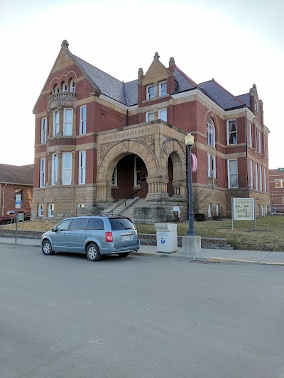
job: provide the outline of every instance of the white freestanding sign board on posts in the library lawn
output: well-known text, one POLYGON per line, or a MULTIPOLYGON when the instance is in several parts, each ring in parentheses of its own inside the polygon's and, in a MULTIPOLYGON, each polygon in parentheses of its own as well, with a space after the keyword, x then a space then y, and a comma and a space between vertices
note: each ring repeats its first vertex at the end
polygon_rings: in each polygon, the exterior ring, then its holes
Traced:
POLYGON ((231 201, 231 229, 234 221, 254 221, 256 228, 256 212, 254 198, 232 198, 231 201))

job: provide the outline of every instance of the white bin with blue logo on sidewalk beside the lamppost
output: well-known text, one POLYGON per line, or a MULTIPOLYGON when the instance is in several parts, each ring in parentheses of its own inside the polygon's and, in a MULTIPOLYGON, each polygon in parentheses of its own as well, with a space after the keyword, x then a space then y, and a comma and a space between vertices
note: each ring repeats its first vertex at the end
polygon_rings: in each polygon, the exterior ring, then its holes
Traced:
POLYGON ((177 225, 174 223, 154 223, 157 233, 157 252, 173 253, 178 251, 177 225))

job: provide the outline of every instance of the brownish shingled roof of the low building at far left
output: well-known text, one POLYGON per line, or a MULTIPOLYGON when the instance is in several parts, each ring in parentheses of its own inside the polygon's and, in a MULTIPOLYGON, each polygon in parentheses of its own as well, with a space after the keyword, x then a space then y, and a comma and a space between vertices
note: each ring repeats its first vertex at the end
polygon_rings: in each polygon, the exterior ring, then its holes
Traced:
POLYGON ((25 165, 0 164, 0 182, 33 185, 33 168, 25 165))

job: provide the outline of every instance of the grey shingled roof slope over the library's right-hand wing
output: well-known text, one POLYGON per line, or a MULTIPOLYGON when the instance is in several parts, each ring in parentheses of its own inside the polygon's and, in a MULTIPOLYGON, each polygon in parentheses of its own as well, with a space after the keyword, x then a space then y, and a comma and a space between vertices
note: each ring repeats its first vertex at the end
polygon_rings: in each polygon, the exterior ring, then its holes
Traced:
POLYGON ((215 82, 214 79, 198 84, 198 87, 200 87, 200 89, 204 91, 204 94, 206 94, 224 110, 244 106, 243 101, 237 99, 235 96, 233 96, 233 94, 229 93, 229 91, 226 91, 226 89, 215 82))

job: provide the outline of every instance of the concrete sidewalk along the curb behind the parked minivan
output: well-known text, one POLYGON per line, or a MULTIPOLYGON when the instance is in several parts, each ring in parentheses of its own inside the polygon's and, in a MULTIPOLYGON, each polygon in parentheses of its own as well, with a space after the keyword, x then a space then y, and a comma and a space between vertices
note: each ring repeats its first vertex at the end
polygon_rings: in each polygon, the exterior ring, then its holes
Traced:
MULTIPOLYGON (((28 247, 40 248, 39 239, 22 239, 17 238, 0 238, 0 244, 26 245, 28 247)), ((284 266, 284 252, 266 252, 266 251, 249 251, 249 250, 212 250, 202 248, 197 255, 184 255, 182 248, 178 248, 175 253, 158 253, 157 248, 153 245, 141 245, 138 252, 132 252, 133 255, 180 258, 187 261, 200 262, 244 262, 261 265, 282 265, 284 266)))

